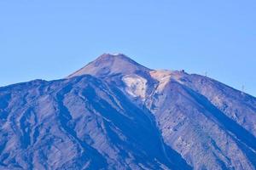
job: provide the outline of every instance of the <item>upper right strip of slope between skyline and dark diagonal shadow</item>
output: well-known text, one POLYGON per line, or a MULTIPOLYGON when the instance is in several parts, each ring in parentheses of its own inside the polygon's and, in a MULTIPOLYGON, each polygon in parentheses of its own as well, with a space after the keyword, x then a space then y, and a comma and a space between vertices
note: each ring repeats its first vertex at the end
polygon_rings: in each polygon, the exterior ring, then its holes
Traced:
POLYGON ((212 105, 256 136, 256 99, 207 77, 191 75, 186 85, 204 95, 212 105))

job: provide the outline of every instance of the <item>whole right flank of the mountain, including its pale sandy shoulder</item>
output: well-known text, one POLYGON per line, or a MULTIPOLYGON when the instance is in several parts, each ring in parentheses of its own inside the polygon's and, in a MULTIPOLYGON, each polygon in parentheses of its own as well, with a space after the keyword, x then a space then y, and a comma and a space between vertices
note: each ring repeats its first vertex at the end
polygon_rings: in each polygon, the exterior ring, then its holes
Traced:
POLYGON ((159 83, 146 105, 166 144, 195 169, 255 169, 255 98, 183 71, 151 75, 159 83))

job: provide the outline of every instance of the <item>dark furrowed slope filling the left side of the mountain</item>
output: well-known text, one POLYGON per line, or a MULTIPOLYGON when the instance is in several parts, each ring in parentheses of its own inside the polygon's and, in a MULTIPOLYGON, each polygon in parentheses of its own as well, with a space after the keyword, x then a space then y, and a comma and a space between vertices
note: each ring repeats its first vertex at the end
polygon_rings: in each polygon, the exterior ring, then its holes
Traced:
POLYGON ((154 117, 90 76, 0 88, 1 169, 189 169, 154 117))

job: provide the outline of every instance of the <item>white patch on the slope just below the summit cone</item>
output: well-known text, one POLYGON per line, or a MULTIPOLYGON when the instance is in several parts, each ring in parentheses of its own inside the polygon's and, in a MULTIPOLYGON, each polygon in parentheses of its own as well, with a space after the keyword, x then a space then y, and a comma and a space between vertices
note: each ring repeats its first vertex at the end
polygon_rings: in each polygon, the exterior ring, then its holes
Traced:
POLYGON ((137 75, 127 75, 123 77, 123 82, 125 82, 125 91, 132 97, 140 97, 145 99, 147 80, 143 77, 137 75))

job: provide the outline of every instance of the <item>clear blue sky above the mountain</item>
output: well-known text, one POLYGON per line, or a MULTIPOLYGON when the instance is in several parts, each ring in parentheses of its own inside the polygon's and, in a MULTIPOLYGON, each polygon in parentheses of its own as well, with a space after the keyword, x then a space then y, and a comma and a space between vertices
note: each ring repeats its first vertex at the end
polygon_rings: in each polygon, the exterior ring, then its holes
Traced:
POLYGON ((116 52, 256 96, 256 1, 0 0, 0 86, 66 77, 116 52))

